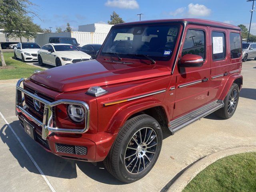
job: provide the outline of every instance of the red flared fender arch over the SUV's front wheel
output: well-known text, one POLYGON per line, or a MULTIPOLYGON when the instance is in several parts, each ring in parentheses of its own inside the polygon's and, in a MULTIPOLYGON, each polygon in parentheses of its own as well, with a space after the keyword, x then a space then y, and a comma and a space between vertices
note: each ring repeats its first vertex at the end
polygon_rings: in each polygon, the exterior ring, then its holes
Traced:
MULTIPOLYGON (((124 107, 120 108, 118 112, 116 112, 113 116, 113 118, 110 120, 110 123, 108 125, 107 131, 109 133, 115 134, 118 133, 120 128, 124 125, 124 123, 128 120, 128 118, 138 112, 141 112, 143 110, 153 108, 160 106, 164 109, 164 112, 168 114, 166 107, 162 102, 159 100, 152 100, 152 99, 145 99, 140 100, 136 103, 125 105, 124 107)), ((169 122, 169 116, 166 115, 169 122)))

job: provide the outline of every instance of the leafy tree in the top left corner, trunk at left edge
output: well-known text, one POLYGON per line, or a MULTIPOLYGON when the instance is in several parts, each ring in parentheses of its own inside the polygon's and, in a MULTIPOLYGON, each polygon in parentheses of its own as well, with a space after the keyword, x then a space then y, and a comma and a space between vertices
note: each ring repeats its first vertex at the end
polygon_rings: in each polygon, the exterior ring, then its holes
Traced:
MULTIPOLYGON (((30 14, 32 16, 38 16, 36 12, 32 11, 31 6, 36 6, 29 0, 0 0, 0 25, 1 28, 10 28, 12 25, 16 26, 16 22, 19 21, 20 16, 30 14)), ((35 27, 35 26, 33 26, 35 27)), ((2 47, 0 45, 0 57, 2 60, 2 66, 6 66, 4 61, 4 55, 2 53, 2 47)))

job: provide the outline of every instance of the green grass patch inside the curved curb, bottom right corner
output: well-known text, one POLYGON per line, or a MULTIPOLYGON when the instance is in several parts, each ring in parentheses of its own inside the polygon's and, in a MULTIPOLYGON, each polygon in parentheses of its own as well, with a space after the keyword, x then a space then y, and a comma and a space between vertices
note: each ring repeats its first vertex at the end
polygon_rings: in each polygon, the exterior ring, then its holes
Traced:
POLYGON ((200 172, 183 192, 255 192, 256 153, 222 158, 200 172))

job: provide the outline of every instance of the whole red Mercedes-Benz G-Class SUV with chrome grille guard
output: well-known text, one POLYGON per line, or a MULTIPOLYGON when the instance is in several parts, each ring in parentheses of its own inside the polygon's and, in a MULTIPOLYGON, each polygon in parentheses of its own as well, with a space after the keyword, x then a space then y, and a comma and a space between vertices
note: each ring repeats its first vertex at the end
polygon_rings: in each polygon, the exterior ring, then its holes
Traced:
POLYGON ((212 112, 234 114, 241 44, 239 27, 209 20, 118 24, 96 60, 20 79, 16 114, 47 151, 104 161, 113 176, 134 182, 156 163, 162 132, 212 112))

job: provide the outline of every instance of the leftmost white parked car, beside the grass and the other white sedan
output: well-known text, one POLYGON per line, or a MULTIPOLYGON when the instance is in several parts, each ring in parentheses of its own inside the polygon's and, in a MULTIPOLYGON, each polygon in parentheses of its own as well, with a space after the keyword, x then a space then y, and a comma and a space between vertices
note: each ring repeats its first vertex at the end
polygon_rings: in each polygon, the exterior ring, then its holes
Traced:
POLYGON ((37 52, 40 46, 36 43, 18 43, 14 48, 14 59, 25 61, 37 61, 37 52))

